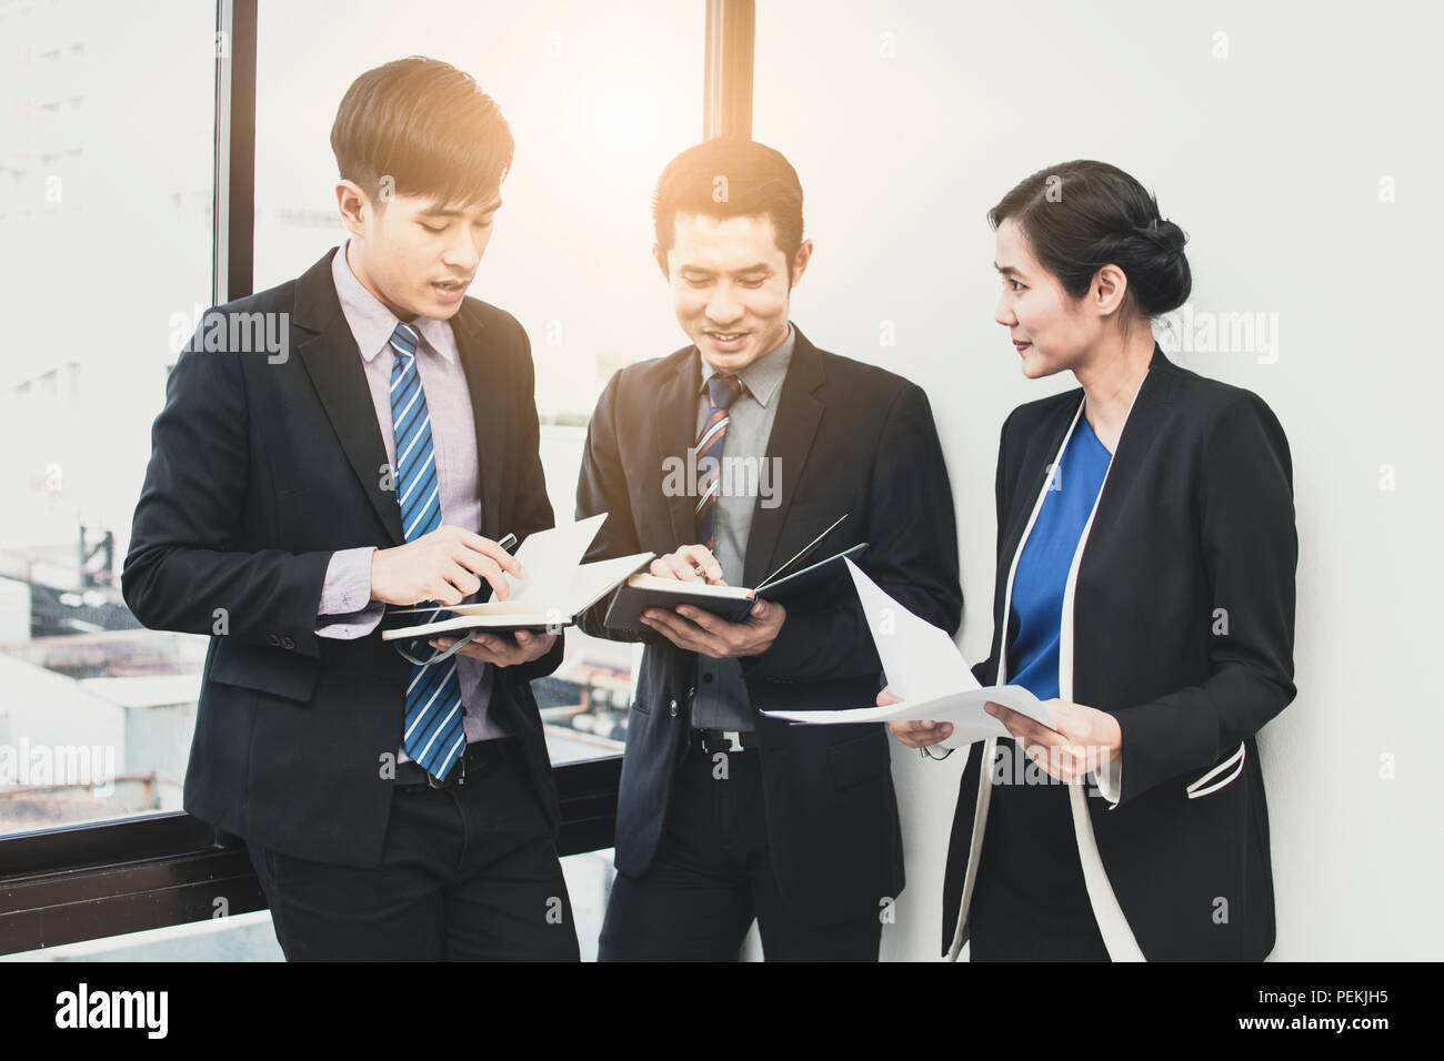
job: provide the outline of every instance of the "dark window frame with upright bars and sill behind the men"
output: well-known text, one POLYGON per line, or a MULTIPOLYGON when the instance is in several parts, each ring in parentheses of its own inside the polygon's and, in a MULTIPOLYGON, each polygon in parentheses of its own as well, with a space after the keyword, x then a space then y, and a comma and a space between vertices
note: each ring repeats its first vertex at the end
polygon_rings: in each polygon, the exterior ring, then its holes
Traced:
MULTIPOLYGON (((218 0, 212 300, 253 293, 258 0, 218 0), (222 36, 224 35, 224 36, 222 36)), ((703 136, 749 137, 755 0, 706 0, 703 136)), ((621 756, 552 768, 557 853, 614 843, 621 756)), ((244 843, 185 811, 0 836, 0 954, 263 909, 244 843)))

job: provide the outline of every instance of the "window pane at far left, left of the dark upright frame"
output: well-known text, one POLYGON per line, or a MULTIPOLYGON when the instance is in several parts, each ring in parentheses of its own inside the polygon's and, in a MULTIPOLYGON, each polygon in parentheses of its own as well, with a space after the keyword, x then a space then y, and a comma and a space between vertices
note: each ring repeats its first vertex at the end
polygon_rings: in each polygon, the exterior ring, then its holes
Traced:
POLYGON ((179 810, 205 638, 118 586, 211 300, 215 9, 0 4, 0 833, 179 810))

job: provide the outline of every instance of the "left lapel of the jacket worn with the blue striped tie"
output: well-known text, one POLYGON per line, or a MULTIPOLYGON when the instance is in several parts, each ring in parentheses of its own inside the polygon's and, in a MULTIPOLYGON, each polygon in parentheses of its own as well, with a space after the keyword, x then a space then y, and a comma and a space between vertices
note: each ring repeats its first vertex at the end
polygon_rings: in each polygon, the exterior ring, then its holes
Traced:
POLYGON ((367 385, 361 351, 341 312, 341 300, 331 279, 331 254, 306 270, 296 283, 292 322, 302 333, 296 344, 300 359, 361 489, 386 527, 391 544, 404 544, 396 491, 381 488, 386 443, 375 420, 375 404, 367 385))

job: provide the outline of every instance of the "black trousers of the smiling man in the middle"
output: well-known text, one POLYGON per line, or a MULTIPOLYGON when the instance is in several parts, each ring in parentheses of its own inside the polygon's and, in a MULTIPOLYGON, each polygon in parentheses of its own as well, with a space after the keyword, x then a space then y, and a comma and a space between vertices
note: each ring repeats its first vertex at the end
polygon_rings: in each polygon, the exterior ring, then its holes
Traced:
POLYGON ((695 741, 671 782, 657 855, 641 876, 618 873, 601 961, 735 961, 752 920, 768 961, 877 961, 877 912, 803 922, 783 902, 767 846, 760 752, 729 752, 726 775, 695 741))

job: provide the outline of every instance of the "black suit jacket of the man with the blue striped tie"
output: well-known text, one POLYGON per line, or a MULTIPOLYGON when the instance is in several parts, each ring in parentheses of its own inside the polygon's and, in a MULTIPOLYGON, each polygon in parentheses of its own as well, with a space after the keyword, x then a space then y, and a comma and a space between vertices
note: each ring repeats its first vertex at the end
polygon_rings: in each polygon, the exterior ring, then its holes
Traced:
MULTIPOLYGON (((400 743, 409 664, 380 626, 352 641, 316 637, 316 608, 332 553, 404 537, 396 494, 381 488, 386 445, 332 281, 334 253, 297 280, 214 310, 289 315, 284 359, 182 352, 152 432, 121 586, 146 626, 212 634, 185 808, 287 855, 374 866, 394 784, 381 756, 400 743)), ((477 422, 481 533, 524 538, 553 524, 526 332, 477 299, 452 328, 477 422)), ((491 700, 520 739, 553 827, 527 681, 560 658, 557 638, 547 657, 500 668, 491 700)))

